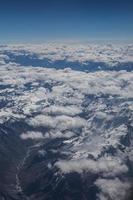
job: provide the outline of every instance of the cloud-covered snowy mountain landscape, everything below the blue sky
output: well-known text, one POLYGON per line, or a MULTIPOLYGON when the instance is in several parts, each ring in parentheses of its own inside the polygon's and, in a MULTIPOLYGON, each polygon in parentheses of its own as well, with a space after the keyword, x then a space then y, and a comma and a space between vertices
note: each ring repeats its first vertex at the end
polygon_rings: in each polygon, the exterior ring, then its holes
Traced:
POLYGON ((132 199, 132 58, 133 45, 0 47, 0 200, 132 199))

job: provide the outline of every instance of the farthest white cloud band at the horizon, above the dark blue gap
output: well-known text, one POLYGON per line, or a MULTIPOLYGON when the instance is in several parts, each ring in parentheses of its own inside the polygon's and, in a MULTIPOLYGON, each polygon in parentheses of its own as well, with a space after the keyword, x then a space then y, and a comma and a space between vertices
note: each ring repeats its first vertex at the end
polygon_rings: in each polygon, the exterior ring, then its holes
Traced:
MULTIPOLYGON (((38 60, 48 59, 49 63, 66 60, 79 62, 86 66, 87 62, 105 63, 108 68, 117 67, 119 63, 133 62, 133 45, 128 44, 84 44, 84 43, 45 43, 8 45, 1 47, 2 57, 5 52, 11 52, 12 56, 36 55, 38 60)), ((9 54, 10 55, 10 54, 9 54)), ((6 59, 6 58, 5 58, 6 59)), ((63 66, 64 67, 64 66, 63 66)), ((70 66, 71 67, 71 66, 70 66)))

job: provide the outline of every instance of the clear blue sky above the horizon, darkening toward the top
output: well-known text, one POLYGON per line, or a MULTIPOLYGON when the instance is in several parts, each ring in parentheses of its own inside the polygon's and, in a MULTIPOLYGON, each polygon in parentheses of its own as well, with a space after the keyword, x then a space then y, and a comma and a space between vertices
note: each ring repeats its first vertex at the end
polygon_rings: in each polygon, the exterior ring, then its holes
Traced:
POLYGON ((133 40, 132 0, 0 0, 0 42, 133 40))

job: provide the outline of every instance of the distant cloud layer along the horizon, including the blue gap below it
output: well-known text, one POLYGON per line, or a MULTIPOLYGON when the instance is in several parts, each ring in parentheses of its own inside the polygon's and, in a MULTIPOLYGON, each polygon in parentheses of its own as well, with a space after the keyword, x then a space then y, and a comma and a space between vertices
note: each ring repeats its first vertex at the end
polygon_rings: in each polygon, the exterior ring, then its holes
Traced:
POLYGON ((132 44, 45 43, 1 46, 0 63, 77 70, 133 70, 132 44))

